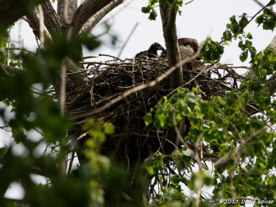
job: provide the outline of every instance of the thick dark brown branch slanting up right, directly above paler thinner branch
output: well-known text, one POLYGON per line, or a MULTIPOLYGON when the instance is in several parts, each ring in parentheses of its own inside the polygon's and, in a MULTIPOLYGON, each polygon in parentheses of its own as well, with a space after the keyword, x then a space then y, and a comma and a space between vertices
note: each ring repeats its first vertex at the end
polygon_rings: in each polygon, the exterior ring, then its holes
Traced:
POLYGON ((82 26, 90 17, 99 12, 102 8, 111 3, 112 0, 86 0, 77 9, 75 18, 72 20, 72 34, 78 34, 82 26))

